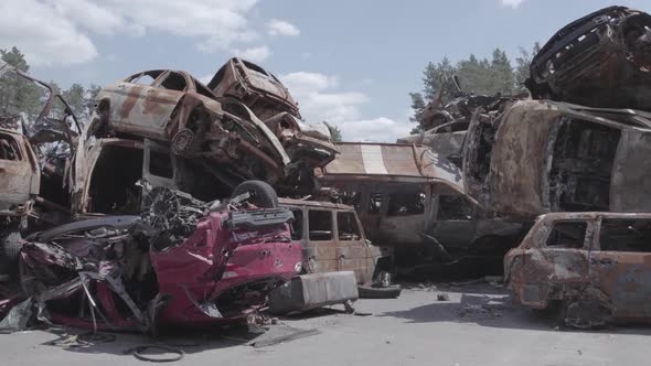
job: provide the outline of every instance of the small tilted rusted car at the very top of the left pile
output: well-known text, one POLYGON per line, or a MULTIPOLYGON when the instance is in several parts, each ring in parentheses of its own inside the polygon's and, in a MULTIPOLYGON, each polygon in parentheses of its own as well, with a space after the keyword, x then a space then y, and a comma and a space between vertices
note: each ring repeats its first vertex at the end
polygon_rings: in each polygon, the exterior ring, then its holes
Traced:
POLYGON ((285 85, 271 73, 246 60, 228 60, 207 87, 218 97, 241 100, 263 120, 282 111, 301 118, 298 105, 285 85))

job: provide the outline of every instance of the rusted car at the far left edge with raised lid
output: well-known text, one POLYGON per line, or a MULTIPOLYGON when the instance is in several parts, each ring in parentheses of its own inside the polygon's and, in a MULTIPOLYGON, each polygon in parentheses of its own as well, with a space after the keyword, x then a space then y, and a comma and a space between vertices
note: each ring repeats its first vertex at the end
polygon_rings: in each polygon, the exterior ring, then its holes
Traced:
POLYGON ((28 218, 39 226, 65 216, 64 168, 79 126, 57 90, 2 61, 0 106, 0 272, 6 272, 15 262, 28 218))

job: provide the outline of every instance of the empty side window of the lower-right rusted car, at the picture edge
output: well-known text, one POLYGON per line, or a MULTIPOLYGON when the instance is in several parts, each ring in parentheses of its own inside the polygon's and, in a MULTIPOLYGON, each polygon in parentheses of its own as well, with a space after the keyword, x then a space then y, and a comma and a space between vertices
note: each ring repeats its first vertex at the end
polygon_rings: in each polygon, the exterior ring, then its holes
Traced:
POLYGON ((602 251, 651 251, 651 219, 604 218, 599 232, 602 251))

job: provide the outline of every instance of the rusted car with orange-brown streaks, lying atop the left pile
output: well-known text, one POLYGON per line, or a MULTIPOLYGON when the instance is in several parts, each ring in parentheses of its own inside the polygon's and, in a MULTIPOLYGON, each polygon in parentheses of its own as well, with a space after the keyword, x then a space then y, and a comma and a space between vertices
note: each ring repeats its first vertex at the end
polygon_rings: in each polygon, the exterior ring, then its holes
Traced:
POLYGON ((185 72, 131 75, 97 95, 89 134, 170 142, 178 155, 210 157, 247 179, 275 181, 289 163, 276 136, 245 105, 217 98, 185 72))

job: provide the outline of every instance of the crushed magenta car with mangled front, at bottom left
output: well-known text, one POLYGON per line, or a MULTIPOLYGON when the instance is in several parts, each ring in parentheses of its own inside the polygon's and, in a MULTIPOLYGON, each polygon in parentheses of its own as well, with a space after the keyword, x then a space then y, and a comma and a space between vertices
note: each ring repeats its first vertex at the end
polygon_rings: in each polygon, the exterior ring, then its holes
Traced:
POLYGON ((291 212, 276 207, 270 186, 245 182, 236 192, 201 203, 153 187, 141 216, 32 235, 19 273, 25 306, 60 324, 145 333, 247 316, 301 271, 301 249, 290 239, 291 212))

